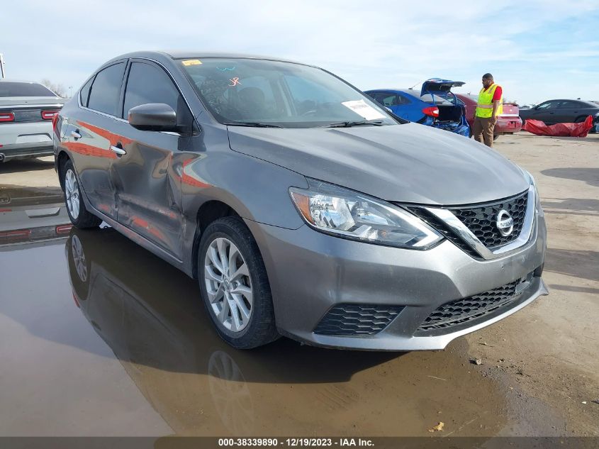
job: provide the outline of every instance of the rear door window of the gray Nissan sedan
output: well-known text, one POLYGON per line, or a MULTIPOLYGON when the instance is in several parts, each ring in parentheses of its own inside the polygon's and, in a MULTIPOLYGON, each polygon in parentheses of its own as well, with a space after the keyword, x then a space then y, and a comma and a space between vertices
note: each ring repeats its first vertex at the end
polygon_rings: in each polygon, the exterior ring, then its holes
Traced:
POLYGON ((87 107, 111 116, 120 116, 118 101, 121 97, 124 74, 125 62, 118 62, 98 72, 94 84, 91 84, 87 107))

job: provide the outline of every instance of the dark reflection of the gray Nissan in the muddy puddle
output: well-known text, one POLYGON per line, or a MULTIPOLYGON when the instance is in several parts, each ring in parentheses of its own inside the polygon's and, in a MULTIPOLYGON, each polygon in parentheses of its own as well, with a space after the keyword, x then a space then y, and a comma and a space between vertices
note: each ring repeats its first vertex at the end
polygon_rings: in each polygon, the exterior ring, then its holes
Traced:
MULTIPOLYGON (((235 350, 213 331, 194 279, 113 229, 73 229, 65 255, 77 306, 177 433, 296 433, 301 426, 281 421, 304 413, 308 431, 313 399, 301 386, 295 394, 293 384, 347 382, 354 372, 398 357, 352 357, 286 338, 235 350), (282 391, 280 384, 291 385, 282 391)), ((357 397, 337 390, 320 389, 320 399, 344 408, 357 397)))

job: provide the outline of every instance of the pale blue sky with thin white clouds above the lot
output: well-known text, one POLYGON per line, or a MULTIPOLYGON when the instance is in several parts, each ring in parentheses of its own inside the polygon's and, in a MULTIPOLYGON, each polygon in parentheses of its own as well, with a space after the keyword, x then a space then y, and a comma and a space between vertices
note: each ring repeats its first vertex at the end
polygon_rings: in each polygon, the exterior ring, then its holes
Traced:
POLYGON ((324 67, 360 89, 431 77, 520 104, 599 100, 599 1, 4 0, 7 77, 73 92, 133 50, 247 52, 324 67))

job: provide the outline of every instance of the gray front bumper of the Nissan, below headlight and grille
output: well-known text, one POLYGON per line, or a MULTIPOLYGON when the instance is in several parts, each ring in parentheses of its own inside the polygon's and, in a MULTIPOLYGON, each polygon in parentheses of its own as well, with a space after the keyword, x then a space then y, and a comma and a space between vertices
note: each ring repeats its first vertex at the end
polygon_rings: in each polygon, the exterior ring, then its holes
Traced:
POLYGON ((529 243, 505 257, 476 260, 444 240, 430 250, 405 250, 336 238, 307 225, 296 230, 246 220, 267 268, 279 331, 302 342, 360 350, 439 350, 454 338, 499 321, 547 294, 540 277, 547 230, 535 220, 529 243), (509 306, 423 335, 420 325, 442 304, 529 277, 509 306), (531 278, 532 277, 532 278, 531 278), (315 333, 340 304, 403 306, 382 331, 340 336, 315 333))

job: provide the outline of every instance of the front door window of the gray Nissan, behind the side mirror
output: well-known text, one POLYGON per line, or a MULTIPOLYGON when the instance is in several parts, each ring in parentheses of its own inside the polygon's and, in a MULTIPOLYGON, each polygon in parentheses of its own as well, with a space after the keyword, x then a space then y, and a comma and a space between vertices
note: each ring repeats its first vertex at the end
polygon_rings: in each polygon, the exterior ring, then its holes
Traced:
POLYGON ((179 91, 164 70, 146 62, 133 62, 125 87, 124 118, 129 109, 147 103, 168 104, 179 113, 179 101, 179 91))

